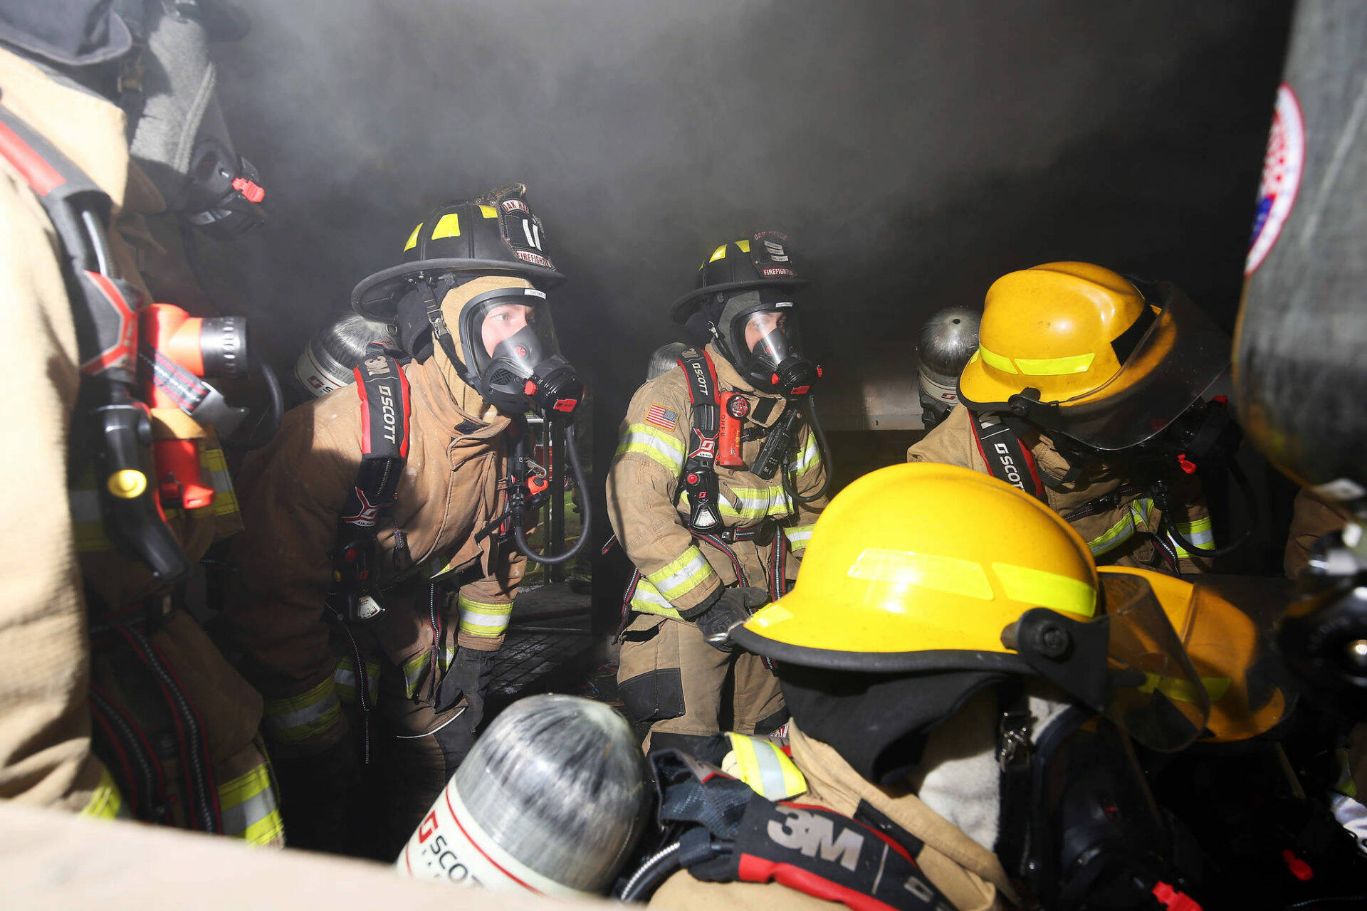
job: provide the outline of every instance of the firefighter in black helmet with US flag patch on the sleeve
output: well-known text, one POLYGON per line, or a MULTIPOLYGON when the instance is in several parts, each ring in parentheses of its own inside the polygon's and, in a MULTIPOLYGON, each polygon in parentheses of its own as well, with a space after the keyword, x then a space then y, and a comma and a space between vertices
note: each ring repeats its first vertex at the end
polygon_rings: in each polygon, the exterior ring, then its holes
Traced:
POLYGON ((726 641, 796 576, 828 486, 811 408, 820 369, 801 347, 804 281, 785 244, 763 231, 703 264, 673 317, 711 341, 636 391, 608 471, 608 516, 636 570, 618 683, 648 747, 715 735, 723 712, 745 733, 786 718, 771 671, 726 641))

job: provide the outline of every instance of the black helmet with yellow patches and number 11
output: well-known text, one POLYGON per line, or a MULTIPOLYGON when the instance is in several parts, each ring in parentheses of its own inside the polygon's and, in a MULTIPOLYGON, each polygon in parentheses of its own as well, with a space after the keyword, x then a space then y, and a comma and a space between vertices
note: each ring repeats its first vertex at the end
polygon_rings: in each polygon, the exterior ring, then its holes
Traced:
POLYGON ((545 255, 545 232, 514 183, 468 202, 433 209, 403 244, 403 262, 362 279, 351 307, 364 317, 394 320, 399 298, 420 273, 473 272, 522 276, 540 290, 565 280, 545 255))

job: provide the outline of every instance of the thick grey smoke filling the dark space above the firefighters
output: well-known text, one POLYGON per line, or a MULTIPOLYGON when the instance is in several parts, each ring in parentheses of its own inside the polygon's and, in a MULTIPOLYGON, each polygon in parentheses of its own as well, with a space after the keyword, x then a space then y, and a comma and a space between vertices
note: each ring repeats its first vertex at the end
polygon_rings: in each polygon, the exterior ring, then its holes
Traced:
MULTIPOLYGON (((522 180, 570 276, 562 344, 615 425, 700 257, 790 232, 824 414, 1057 258, 1237 302, 1288 4, 239 0, 220 46, 272 223, 253 317, 293 359, 446 198, 522 180)), ((603 455, 603 453, 600 453, 603 455)))

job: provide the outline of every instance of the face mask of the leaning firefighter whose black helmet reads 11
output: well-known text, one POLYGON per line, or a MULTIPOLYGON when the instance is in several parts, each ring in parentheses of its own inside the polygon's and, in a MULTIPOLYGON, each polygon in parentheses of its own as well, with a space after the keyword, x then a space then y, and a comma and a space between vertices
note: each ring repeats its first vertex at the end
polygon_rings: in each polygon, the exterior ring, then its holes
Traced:
POLYGON ((569 417, 584 396, 578 372, 559 352, 545 294, 536 288, 498 288, 466 303, 461 348, 472 385, 503 412, 569 417))

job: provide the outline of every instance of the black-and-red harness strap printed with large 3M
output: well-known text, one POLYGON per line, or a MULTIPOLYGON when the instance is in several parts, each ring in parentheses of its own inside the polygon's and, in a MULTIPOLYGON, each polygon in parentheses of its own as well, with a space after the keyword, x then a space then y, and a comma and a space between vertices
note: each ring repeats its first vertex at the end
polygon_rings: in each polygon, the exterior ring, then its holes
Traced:
POLYGON ((679 866, 704 882, 778 882, 854 911, 949 911, 916 863, 923 841, 860 804, 854 818, 770 800, 677 750, 651 755, 660 822, 682 829, 679 866))

